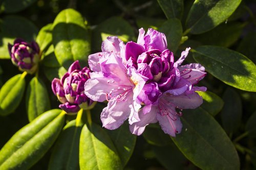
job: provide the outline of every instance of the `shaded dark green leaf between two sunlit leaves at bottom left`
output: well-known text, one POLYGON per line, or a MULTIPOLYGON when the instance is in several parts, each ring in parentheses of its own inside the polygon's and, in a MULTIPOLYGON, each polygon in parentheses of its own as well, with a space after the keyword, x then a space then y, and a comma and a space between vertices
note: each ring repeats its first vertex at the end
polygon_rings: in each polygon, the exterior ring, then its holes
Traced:
POLYGON ((82 125, 76 120, 62 130, 54 146, 48 169, 79 169, 79 139, 82 125))

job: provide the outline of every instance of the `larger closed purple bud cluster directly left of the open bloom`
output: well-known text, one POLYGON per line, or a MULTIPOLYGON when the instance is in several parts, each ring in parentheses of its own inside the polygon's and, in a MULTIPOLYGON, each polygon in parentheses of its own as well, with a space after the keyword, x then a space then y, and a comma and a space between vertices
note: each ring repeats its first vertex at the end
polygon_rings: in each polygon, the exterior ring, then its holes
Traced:
POLYGON ((82 109, 90 109, 93 101, 84 94, 84 83, 90 78, 90 69, 80 68, 79 61, 75 61, 68 72, 61 78, 54 78, 52 91, 62 103, 59 107, 67 113, 76 113, 82 109))

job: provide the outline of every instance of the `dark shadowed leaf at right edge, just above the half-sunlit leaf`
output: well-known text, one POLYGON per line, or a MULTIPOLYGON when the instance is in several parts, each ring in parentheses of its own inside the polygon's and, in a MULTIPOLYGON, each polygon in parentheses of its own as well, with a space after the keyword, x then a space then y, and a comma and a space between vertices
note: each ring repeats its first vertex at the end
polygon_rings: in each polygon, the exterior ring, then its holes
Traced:
POLYGON ((256 43, 251 43, 256 39, 256 31, 248 33, 240 42, 237 51, 242 53, 256 63, 256 43))

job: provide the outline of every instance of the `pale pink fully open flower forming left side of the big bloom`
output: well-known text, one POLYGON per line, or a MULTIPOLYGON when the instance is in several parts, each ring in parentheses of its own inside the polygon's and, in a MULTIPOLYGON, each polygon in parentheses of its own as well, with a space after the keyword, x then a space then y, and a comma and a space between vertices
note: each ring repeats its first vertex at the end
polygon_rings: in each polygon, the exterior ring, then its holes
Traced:
MULTIPOLYGON (((115 47, 114 43, 113 45, 115 47)), ((134 67, 127 69, 118 52, 120 51, 103 52, 104 56, 98 55, 99 53, 90 55, 91 69, 98 72, 92 72, 91 79, 84 84, 84 93, 90 99, 108 101, 108 106, 103 109, 100 118, 103 127, 111 130, 118 128, 127 118, 130 124, 139 121, 138 110, 141 105, 137 96, 147 80, 134 67)))

